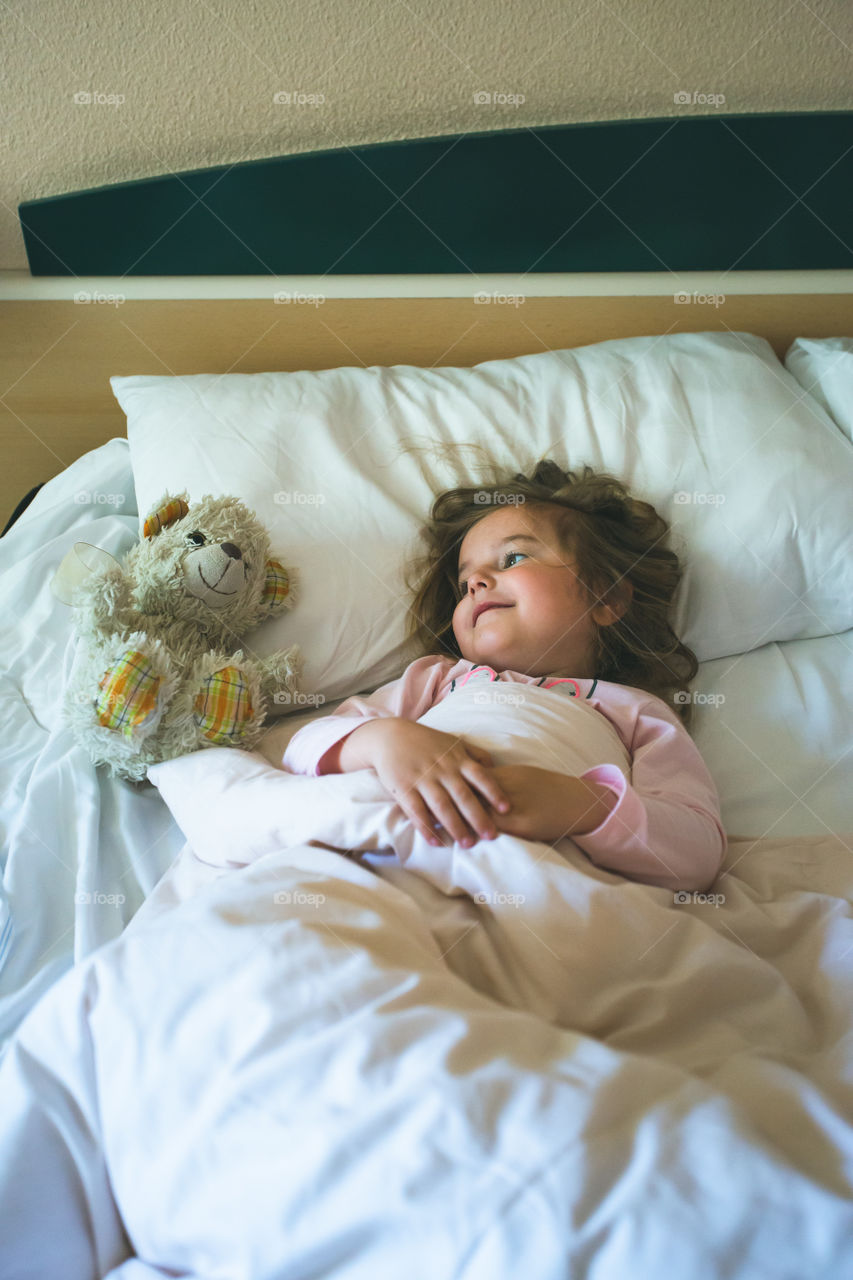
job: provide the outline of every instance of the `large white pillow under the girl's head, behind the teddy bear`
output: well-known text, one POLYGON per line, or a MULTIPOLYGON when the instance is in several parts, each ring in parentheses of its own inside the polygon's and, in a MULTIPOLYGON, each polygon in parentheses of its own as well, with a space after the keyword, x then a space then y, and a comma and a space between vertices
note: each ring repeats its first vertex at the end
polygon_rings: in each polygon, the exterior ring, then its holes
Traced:
POLYGON ((751 334, 626 338, 473 369, 111 385, 140 522, 164 490, 234 494, 298 568, 297 607, 252 646, 298 643, 302 694, 318 703, 393 680, 414 657, 403 562, 434 495, 485 483, 489 458, 510 474, 540 454, 587 462, 654 503, 685 556, 675 625, 699 660, 853 626, 853 451, 751 334), (482 448, 443 448, 465 444, 482 448))

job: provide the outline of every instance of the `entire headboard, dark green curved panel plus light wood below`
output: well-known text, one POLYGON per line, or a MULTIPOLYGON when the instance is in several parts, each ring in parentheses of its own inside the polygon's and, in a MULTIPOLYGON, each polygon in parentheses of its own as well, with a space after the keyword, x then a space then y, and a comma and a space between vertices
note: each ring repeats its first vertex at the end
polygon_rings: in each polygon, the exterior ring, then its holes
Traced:
POLYGON ((852 143, 853 113, 608 122, 22 205, 32 275, 0 273, 0 527, 124 435, 113 374, 473 365, 713 329, 781 357, 853 334, 852 143))

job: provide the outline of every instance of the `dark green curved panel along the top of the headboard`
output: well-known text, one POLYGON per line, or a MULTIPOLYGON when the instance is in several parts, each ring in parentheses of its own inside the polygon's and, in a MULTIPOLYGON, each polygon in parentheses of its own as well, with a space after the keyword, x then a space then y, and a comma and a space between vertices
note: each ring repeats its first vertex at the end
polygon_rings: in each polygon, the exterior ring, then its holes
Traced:
POLYGON ((278 156, 19 206, 33 275, 853 268, 853 113, 278 156))

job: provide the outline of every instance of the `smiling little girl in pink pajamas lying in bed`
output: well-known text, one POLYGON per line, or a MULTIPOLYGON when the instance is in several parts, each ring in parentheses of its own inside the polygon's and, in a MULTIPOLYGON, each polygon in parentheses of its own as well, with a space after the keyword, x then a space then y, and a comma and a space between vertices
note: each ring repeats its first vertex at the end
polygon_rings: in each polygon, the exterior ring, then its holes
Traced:
POLYGON ((485 489, 441 494, 410 634, 429 657, 301 728, 293 773, 371 768, 430 844, 498 832, 570 836, 597 865, 676 890, 707 888, 726 837, 713 782, 683 727, 695 655, 669 621, 681 571, 669 525, 612 476, 542 461, 485 489), (616 730, 613 764, 580 777, 491 755, 419 724, 469 673, 585 699, 616 730), (663 699, 672 700, 672 709, 663 699))

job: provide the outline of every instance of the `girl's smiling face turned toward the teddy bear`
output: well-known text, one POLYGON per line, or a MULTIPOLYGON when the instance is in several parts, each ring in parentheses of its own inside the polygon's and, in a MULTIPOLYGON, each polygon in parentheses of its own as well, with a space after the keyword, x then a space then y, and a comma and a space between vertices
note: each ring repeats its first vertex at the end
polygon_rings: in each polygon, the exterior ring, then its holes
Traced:
POLYGON ((496 671, 592 678, 594 625, 619 616, 587 603, 548 507, 500 507, 469 529, 459 588, 453 635, 461 654, 496 671))

